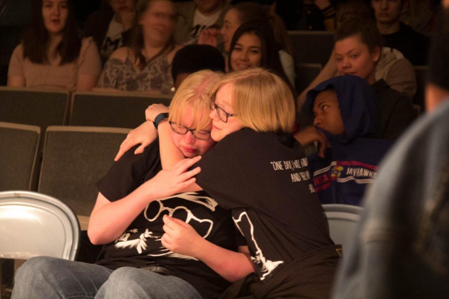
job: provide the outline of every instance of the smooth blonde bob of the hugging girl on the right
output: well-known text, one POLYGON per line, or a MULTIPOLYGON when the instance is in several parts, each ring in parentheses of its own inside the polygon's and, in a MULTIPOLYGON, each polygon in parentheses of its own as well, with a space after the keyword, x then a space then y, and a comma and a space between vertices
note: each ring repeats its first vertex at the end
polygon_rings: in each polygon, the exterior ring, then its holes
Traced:
POLYGON ((231 72, 214 86, 214 97, 225 84, 232 84, 230 104, 243 126, 257 132, 293 131, 295 101, 279 76, 263 68, 231 72))

